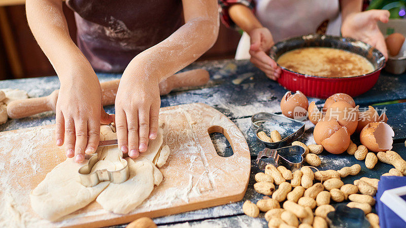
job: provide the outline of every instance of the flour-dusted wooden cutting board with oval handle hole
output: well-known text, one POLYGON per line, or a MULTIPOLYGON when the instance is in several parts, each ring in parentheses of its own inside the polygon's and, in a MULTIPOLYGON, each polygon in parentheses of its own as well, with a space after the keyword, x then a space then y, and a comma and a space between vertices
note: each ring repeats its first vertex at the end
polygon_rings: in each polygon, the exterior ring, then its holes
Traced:
POLYGON ((63 148, 54 143, 55 125, 1 132, 0 207, 9 214, 6 217, 17 214, 21 223, 31 227, 108 226, 240 201, 247 189, 251 160, 238 127, 201 103, 164 107, 159 115, 165 123, 163 145, 170 146, 171 155, 160 168, 163 181, 151 196, 126 215, 110 213, 94 201, 53 223, 32 211, 28 194, 65 160, 63 148), (228 139, 232 156, 217 155, 209 136, 213 132, 228 139))

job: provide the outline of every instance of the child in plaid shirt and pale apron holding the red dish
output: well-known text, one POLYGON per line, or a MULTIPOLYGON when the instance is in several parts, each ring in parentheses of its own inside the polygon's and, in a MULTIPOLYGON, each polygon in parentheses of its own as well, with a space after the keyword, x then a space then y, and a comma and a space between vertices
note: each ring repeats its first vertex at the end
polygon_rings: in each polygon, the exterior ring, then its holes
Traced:
POLYGON ((270 48, 290 36, 323 33, 363 41, 387 58, 384 36, 377 22, 387 23, 389 12, 361 12, 362 0, 219 0, 222 21, 244 30, 235 59, 250 59, 269 79, 281 69, 268 56, 270 48))

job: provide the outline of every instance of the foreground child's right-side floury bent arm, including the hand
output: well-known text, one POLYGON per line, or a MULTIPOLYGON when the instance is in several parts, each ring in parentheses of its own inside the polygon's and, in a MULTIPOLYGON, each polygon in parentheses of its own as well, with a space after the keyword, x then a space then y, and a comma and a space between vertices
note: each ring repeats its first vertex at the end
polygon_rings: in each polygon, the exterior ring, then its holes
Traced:
POLYGON ((160 107, 158 83, 213 46, 219 30, 216 0, 183 0, 185 24, 159 44, 134 57, 117 91, 119 148, 135 158, 155 139, 160 107))

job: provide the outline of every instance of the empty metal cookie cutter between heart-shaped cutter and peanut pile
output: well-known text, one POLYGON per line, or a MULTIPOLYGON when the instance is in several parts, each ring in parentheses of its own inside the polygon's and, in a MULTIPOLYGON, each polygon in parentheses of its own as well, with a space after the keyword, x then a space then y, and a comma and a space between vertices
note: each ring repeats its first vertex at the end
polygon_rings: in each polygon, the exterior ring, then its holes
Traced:
POLYGON ((302 167, 304 152, 304 148, 298 145, 279 149, 264 148, 258 153, 256 163, 260 170, 265 170, 265 166, 268 164, 276 167, 280 164, 294 172, 302 167))

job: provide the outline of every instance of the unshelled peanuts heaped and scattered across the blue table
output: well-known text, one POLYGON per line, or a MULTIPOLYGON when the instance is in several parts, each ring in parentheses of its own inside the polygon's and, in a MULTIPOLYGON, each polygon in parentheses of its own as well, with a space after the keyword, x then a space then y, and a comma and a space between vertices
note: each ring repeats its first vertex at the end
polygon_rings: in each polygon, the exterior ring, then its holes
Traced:
MULTIPOLYGON (((309 165, 320 165, 321 161, 317 155, 323 151, 323 146, 307 146, 299 141, 293 142, 292 145, 302 146, 306 150, 305 161, 309 165)), ((357 159, 360 158, 358 160, 367 159, 365 165, 371 167, 369 169, 375 166, 378 159, 395 167, 384 175, 406 174, 406 162, 394 151, 379 152, 376 156, 368 153, 367 149, 365 152, 363 147, 351 143, 347 151, 357 159), (369 154, 377 158, 375 164, 374 157, 369 154)), ((358 164, 340 170, 316 172, 304 166, 292 173, 284 166, 267 165, 264 173, 255 175, 257 182, 254 184, 255 191, 265 196, 256 204, 247 200, 243 204, 243 211, 251 217, 257 217, 260 211, 265 212, 268 227, 328 227, 326 216, 335 210, 330 202, 349 200, 351 202, 347 204, 348 207, 361 209, 371 227, 379 227, 378 215, 371 213, 379 179, 361 177, 355 180, 354 184, 344 184, 341 180, 348 175, 357 175, 360 170, 361 166, 358 164)))

